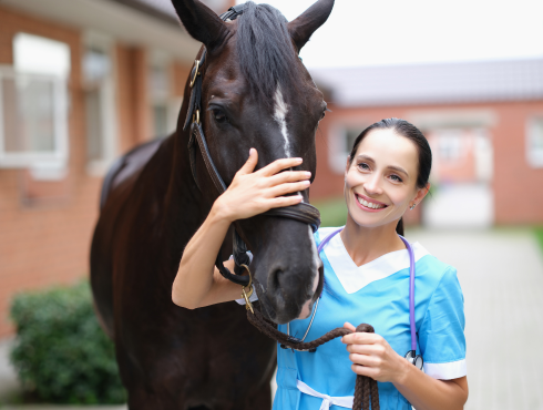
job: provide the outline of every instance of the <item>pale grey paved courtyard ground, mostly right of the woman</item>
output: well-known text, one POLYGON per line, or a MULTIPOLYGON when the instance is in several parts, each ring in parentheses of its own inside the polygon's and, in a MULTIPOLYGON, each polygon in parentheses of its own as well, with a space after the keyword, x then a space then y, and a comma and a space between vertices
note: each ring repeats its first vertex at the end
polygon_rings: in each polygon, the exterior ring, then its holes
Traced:
MULTIPOLYGON (((543 257, 532 233, 411 230, 407 236, 458 268, 467 314, 465 410, 543 410, 543 257)), ((3 341, 0 403, 17 389, 3 341)))

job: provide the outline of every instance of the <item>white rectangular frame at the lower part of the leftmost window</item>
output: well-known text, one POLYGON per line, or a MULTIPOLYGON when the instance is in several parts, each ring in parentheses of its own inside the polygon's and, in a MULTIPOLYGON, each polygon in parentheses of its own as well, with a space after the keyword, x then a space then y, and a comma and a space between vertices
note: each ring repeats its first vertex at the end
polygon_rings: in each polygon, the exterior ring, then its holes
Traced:
POLYGON ((53 167, 63 168, 68 164, 68 84, 66 79, 54 74, 37 74, 18 72, 11 65, 0 64, 0 168, 53 167), (40 79, 53 83, 53 130, 54 150, 43 152, 6 152, 6 135, 3 121, 3 79, 40 79))

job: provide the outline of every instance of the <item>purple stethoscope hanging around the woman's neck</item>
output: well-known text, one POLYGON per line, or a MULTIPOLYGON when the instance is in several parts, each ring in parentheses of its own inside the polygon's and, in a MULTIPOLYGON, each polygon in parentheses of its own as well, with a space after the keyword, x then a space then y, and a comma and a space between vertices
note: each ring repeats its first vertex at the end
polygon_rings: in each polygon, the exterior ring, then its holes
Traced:
MULTIPOLYGON (((330 242, 330 239, 336 236, 338 233, 344 230, 344 228, 336 229, 331 234, 329 234, 326 238, 322 239, 322 242, 319 244, 317 247, 317 254, 320 255, 320 252, 325 247, 326 244, 330 242)), ((401 235, 398 235, 400 239, 406 245, 406 248, 408 249, 409 253, 409 328, 411 330, 411 349, 408 350, 406 356, 403 356, 410 363, 414 365, 417 368, 422 370, 422 356, 417 355, 417 330, 414 328, 414 253, 413 248, 411 247, 411 244, 401 235)), ((304 341, 307 337, 307 334, 309 334, 309 329, 311 328, 313 321, 315 319, 315 315, 317 314, 317 308, 319 307, 319 298, 317 298, 317 301, 315 303, 315 309, 313 309, 313 315, 311 319, 309 320, 309 325, 307 326, 307 330, 304 334, 304 337, 299 339, 299 341, 304 341)), ((287 335, 290 336, 290 324, 287 324, 287 335)), ((290 336, 294 338, 293 336, 290 336)), ((281 345, 281 348, 286 348, 285 346, 281 345)), ((314 352, 316 349, 311 350, 299 350, 299 351, 310 351, 314 352)))

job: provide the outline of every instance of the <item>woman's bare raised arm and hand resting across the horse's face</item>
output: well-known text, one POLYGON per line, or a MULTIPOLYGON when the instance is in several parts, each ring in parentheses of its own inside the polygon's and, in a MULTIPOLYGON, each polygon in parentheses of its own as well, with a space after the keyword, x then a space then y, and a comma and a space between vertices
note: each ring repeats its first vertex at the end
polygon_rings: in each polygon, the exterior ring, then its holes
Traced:
MULTIPOLYGON (((295 205, 300 195, 283 196, 309 186, 311 173, 280 172, 301 164, 301 158, 277 160, 253 172, 258 162, 256 150, 236 173, 230 186, 213 204, 209 215, 188 242, 172 287, 174 304, 195 309, 240 297, 240 286, 223 278, 215 258, 234 221, 262 214, 270 208, 295 205)), ((234 262, 225 263, 233 269, 234 262)))

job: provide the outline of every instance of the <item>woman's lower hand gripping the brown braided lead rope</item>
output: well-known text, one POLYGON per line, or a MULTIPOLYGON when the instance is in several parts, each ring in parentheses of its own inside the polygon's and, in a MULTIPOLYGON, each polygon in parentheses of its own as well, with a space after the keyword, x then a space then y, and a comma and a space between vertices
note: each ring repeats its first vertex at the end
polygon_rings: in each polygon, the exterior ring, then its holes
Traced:
MULTIPOLYGON (((382 338, 376 334, 356 332, 349 322, 345 328, 354 332, 344 336, 341 341, 347 345, 351 369, 355 373, 368 376, 377 381, 399 382, 406 375, 409 362, 398 355, 382 338)), ((412 365, 411 365, 412 366, 412 365)))

